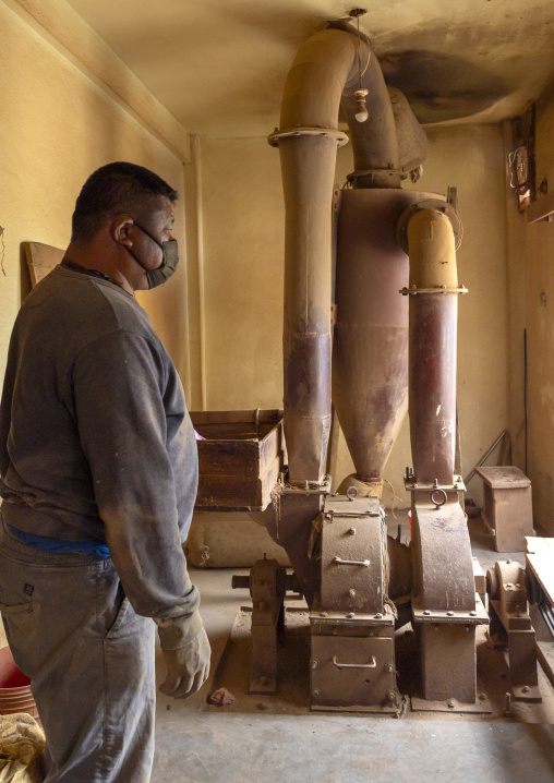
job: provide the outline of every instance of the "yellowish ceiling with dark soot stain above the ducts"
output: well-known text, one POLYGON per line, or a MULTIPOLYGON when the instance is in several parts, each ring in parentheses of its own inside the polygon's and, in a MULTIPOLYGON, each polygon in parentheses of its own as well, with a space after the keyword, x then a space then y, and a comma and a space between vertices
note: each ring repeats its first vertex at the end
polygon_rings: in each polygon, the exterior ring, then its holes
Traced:
MULTIPOLYGON (((299 47, 351 5, 336 0, 70 0, 183 128, 264 136, 299 47), (253 88, 255 87, 255 88, 253 88)), ((360 29, 421 122, 498 122, 541 93, 554 67, 547 0, 392 0, 360 29)), ((60 35, 60 31, 57 31, 60 35)))

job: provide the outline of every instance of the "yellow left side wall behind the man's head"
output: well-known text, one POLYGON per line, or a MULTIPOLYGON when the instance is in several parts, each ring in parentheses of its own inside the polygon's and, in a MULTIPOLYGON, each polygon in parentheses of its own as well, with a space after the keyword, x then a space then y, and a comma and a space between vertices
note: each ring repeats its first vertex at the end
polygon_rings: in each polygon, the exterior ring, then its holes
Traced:
MULTIPOLYGON (((81 36, 86 29, 80 29, 81 36)), ((88 31, 91 38, 95 34, 88 31)), ((77 67, 63 47, 15 4, 0 2, 0 382, 11 327, 29 289, 24 241, 65 248, 75 198, 87 176, 112 160, 154 169, 183 191, 178 154, 138 122, 124 104, 135 82, 110 60, 119 96, 77 67)), ((82 39, 83 40, 83 39, 82 39)), ((100 52, 101 53, 101 52, 100 52)), ((98 55, 100 57, 100 55, 98 55)), ((144 88, 143 88, 144 89, 144 88)), ((164 120, 157 118, 158 128, 164 120)), ((174 120, 170 131, 173 132, 174 120)), ((176 236, 184 248, 184 209, 178 204, 176 236)), ((186 275, 181 264, 171 285, 141 296, 181 374, 186 373, 186 275)))

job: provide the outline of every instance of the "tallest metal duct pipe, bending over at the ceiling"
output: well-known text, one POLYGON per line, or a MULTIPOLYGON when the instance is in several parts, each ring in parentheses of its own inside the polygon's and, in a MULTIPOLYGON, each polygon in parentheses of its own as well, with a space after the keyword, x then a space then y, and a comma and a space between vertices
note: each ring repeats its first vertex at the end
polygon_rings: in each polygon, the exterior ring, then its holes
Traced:
MULTIPOLYGON (((289 480, 296 484, 324 477, 330 427, 330 205, 337 146, 347 141, 337 131, 338 110, 342 96, 351 120, 359 47, 364 63, 369 58, 363 84, 370 120, 364 128, 350 123, 356 167, 370 171, 364 176, 377 185, 373 170, 396 169, 394 115, 381 69, 366 41, 344 29, 317 33, 301 47, 287 79, 280 129, 269 137, 279 146, 285 191, 285 436, 289 480)), ((384 174, 390 185, 394 177, 384 174)))

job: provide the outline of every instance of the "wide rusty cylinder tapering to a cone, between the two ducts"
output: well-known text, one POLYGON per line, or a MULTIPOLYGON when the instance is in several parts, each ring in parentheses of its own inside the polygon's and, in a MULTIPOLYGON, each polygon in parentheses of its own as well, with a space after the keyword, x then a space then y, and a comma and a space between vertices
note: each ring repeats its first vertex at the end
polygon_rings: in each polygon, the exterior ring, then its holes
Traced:
POLYGON ((349 484, 381 496, 382 472, 408 407, 410 260, 396 238, 401 215, 432 193, 347 190, 338 218, 333 403, 356 467, 349 484))

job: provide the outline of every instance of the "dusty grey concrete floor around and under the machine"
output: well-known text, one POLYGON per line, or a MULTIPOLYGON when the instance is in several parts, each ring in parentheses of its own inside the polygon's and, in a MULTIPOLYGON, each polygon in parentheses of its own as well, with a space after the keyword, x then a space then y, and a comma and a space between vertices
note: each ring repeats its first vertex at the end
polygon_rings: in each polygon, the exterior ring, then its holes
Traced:
MULTIPOLYGON (((473 553, 485 570, 509 555, 523 562, 522 553, 494 552, 492 537, 481 522, 470 522, 470 530, 473 553)), ((400 534, 402 541, 409 535, 407 525, 402 523, 400 534)), ((277 694, 250 696, 251 613, 241 610, 248 602, 246 591, 230 590, 232 573, 192 569, 212 640, 213 675, 185 701, 158 695, 153 783, 368 783, 370 778, 373 783, 554 780, 551 686, 539 671, 543 703, 513 701, 510 714, 504 714, 508 670, 504 654, 494 650, 484 628, 478 639, 478 676, 479 692, 482 689, 492 704, 493 712, 487 715, 408 710, 404 720, 394 720, 373 714, 311 713, 308 612, 305 605, 290 600, 287 606, 297 611, 287 612, 286 641, 278 650, 277 694), (221 685, 236 701, 209 707, 209 694, 221 685)), ((397 631, 402 692, 412 687, 410 672, 418 670, 416 638, 410 630, 405 626, 397 631)), ((161 679, 159 650, 158 664, 161 679)))

